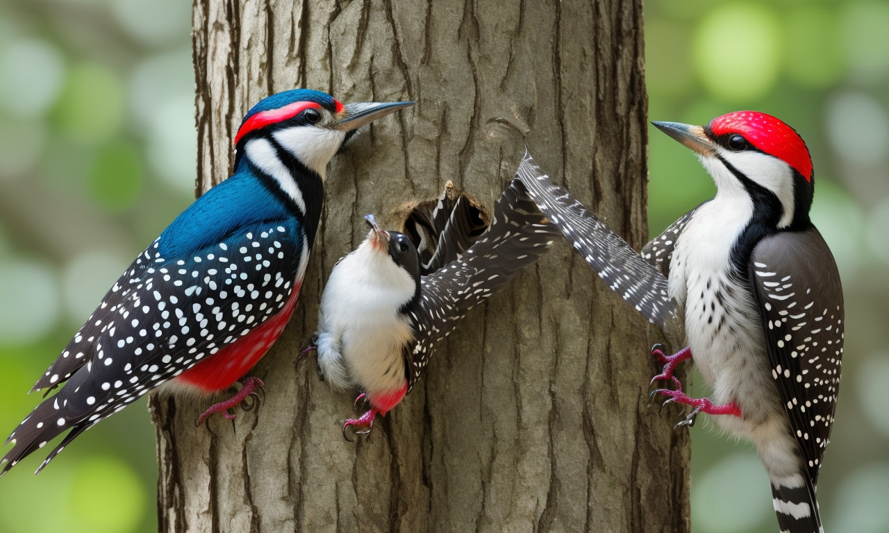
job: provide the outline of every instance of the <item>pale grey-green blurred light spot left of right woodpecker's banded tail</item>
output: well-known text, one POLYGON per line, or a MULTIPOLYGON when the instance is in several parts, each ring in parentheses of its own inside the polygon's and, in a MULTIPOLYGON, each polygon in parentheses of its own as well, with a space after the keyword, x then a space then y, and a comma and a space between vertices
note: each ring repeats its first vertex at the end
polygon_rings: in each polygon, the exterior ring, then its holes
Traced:
POLYGON ((717 462, 692 484, 692 523, 712 533, 748 531, 773 513, 769 480, 752 453, 717 462))

